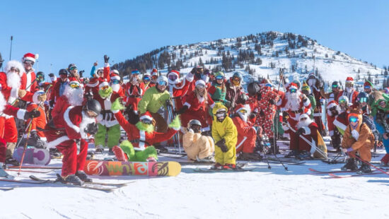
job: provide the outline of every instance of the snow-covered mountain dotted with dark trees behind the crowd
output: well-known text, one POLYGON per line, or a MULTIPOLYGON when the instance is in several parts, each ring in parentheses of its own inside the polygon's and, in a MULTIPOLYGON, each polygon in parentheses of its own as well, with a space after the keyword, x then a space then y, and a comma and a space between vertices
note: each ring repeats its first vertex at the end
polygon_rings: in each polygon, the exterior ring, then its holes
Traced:
POLYGON ((280 69, 289 78, 303 79, 315 72, 325 81, 344 83, 352 76, 359 88, 371 79, 378 88, 388 74, 367 61, 357 60, 343 52, 320 45, 306 36, 286 32, 262 32, 243 37, 211 42, 161 47, 149 53, 116 64, 126 76, 132 69, 142 72, 157 68, 161 73, 169 69, 189 72, 198 64, 225 73, 243 71, 245 81, 269 77, 277 84, 280 69), (370 77, 369 77, 370 76, 370 77))

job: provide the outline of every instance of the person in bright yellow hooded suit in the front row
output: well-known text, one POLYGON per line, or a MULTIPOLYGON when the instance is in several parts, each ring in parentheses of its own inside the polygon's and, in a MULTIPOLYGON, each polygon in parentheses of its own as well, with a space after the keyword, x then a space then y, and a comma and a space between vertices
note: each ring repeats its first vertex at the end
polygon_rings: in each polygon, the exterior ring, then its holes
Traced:
POLYGON ((236 169, 236 142, 238 131, 233 120, 227 116, 227 107, 216 102, 212 124, 212 137, 215 140, 215 169, 236 169))

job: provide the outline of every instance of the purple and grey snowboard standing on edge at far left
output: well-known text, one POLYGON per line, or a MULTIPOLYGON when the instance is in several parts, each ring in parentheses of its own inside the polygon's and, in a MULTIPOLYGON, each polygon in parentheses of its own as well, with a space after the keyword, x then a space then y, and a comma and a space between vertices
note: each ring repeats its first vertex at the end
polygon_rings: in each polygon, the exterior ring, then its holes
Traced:
MULTIPOLYGON (((21 162, 24 148, 16 148, 13 152, 13 158, 21 162)), ((27 148, 23 158, 23 164, 48 165, 50 163, 49 150, 42 148, 27 148)))

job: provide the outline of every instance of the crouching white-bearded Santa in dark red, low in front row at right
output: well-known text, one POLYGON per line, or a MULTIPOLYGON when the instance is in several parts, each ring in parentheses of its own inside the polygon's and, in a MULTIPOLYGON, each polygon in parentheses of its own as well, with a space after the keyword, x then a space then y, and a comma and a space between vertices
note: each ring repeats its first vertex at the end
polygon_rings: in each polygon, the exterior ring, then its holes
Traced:
POLYGON ((295 136, 295 141, 291 142, 294 144, 291 148, 294 148, 295 158, 309 159, 313 155, 313 158, 327 159, 327 147, 318 131, 318 124, 308 114, 300 115, 296 129, 288 124, 284 124, 284 129, 295 136))

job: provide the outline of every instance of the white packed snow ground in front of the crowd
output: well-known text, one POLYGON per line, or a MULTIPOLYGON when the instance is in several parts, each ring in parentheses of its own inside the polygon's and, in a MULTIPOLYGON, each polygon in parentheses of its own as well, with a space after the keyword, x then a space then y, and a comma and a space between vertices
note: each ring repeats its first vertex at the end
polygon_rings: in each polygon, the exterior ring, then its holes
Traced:
MULTIPOLYGON (((385 151, 378 153, 373 160, 385 151)), ((61 160, 50 165, 60 166, 61 160)), ((255 167, 252 172, 217 173, 193 171, 208 166, 183 165, 178 177, 93 177, 134 182, 111 193, 60 184, 0 182, 0 187, 17 187, 0 190, 0 218, 389 218, 388 175, 327 179, 308 168, 338 170, 343 164, 320 160, 287 165, 289 171, 270 165, 271 170, 266 162, 250 162, 246 167, 255 167)), ((59 172, 23 172, 17 179, 28 179, 30 174, 54 178, 59 172)))

